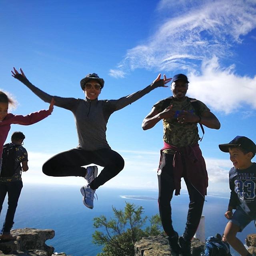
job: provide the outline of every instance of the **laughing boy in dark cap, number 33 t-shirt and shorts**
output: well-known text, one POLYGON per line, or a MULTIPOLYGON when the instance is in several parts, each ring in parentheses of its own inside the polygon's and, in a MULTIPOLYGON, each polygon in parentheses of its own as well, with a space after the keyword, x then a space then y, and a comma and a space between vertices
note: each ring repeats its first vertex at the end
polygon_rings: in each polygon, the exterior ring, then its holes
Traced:
POLYGON ((256 220, 256 163, 252 162, 256 145, 245 136, 236 136, 229 143, 220 144, 219 148, 223 152, 229 152, 234 165, 229 171, 231 193, 228 210, 225 212, 229 221, 224 236, 241 256, 252 256, 236 234, 256 220))

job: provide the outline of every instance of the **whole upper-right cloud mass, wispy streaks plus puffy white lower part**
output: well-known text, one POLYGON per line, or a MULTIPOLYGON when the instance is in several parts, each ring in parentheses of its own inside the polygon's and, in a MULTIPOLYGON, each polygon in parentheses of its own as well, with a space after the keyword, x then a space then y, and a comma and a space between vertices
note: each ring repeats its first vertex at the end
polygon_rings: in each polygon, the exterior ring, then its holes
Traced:
POLYGON ((162 0, 157 10, 168 18, 143 44, 127 50, 118 68, 112 70, 116 77, 137 68, 181 69, 196 84, 190 84, 191 95, 200 95, 211 108, 225 113, 242 103, 256 108, 252 92, 256 78, 240 77, 234 65, 222 67, 218 61, 232 57, 233 47, 256 28, 255 0, 162 0), (242 92, 241 84, 246 84, 242 92))

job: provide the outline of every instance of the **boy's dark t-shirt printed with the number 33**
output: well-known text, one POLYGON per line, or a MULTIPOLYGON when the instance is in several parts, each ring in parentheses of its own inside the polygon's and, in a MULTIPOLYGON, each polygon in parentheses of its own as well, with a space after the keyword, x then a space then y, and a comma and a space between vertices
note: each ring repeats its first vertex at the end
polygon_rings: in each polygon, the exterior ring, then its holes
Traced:
POLYGON ((230 201, 229 206, 238 205, 251 218, 256 219, 256 163, 244 170, 235 167, 229 171, 230 201))

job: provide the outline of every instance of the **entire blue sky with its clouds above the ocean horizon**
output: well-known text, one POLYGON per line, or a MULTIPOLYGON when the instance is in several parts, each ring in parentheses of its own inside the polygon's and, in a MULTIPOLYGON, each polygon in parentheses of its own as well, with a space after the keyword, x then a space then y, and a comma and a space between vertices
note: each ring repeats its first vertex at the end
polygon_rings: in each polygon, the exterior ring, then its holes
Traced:
MULTIPOLYGON (((159 73, 172 77, 182 72, 190 81, 188 96, 203 101, 222 125, 220 130, 205 128, 200 142, 209 192, 229 190, 232 164, 218 144, 236 135, 256 141, 255 0, 2 0, 0 32, 0 88, 18 101, 14 114, 48 104, 12 78, 13 66, 22 67, 45 92, 74 98, 84 97, 80 80, 96 72, 105 80, 100 99, 136 92, 159 73)), ((147 131, 141 123, 155 102, 170 95, 170 88, 157 88, 110 117, 107 139, 126 165, 104 186, 157 189, 162 123, 147 131)), ((55 107, 38 124, 13 125, 10 134, 16 130, 26 135, 29 153, 24 182, 84 184, 82 178, 41 173, 50 156, 77 145, 71 112, 55 107)))

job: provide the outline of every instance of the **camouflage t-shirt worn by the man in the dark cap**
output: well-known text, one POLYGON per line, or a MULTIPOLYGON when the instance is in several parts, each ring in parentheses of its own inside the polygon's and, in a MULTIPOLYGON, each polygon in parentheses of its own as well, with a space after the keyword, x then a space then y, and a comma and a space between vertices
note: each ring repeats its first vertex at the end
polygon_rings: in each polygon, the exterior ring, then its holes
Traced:
MULTIPOLYGON (((158 112, 162 112, 164 110, 164 100, 160 100, 157 102, 154 107, 158 112)), ((198 100, 199 104, 199 112, 202 114, 204 111, 210 111, 210 109, 201 101, 198 100)), ((195 114, 195 110, 190 102, 190 98, 186 97, 183 101, 171 99, 170 105, 172 105, 172 109, 175 111, 174 118, 163 119, 164 125, 164 142, 176 146, 178 148, 189 146, 198 142, 198 127, 197 123, 178 123, 177 117, 178 114, 182 112, 182 110, 187 110, 195 114)), ((166 149, 163 151, 166 154, 174 154, 174 150, 166 149)))

